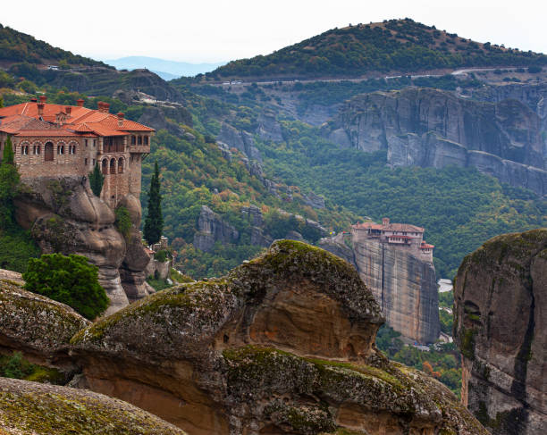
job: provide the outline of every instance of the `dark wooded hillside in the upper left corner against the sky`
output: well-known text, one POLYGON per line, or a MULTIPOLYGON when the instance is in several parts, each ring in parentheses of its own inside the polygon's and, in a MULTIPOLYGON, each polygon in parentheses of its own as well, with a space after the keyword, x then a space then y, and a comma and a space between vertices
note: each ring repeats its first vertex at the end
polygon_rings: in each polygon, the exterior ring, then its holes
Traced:
POLYGON ((22 62, 57 65, 62 61, 69 65, 107 66, 0 24, 0 63, 3 66, 22 62))

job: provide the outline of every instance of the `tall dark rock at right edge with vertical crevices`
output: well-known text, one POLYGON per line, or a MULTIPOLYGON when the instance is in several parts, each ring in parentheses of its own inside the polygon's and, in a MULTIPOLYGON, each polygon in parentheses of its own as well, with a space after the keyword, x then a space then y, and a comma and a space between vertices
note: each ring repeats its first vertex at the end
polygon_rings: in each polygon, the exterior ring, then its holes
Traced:
POLYGON ((496 435, 547 432, 547 230, 492 238, 454 287, 462 400, 496 435))

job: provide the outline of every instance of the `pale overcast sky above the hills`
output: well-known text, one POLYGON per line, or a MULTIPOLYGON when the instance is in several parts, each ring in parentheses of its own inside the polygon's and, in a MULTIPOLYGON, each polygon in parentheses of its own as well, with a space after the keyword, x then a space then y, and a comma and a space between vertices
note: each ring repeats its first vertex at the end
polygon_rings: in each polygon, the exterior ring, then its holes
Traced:
POLYGON ((0 22, 95 59, 220 62, 349 23, 412 18, 479 42, 547 53, 545 0, 3 1, 0 22))

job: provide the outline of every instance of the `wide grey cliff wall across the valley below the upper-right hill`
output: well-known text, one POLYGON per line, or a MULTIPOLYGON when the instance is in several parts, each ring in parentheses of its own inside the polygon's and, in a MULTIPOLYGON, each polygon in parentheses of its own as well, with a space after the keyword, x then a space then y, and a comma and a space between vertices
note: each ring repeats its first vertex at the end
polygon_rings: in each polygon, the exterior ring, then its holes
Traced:
POLYGON ((517 100, 485 103, 406 88, 352 98, 325 134, 341 146, 387 150, 394 166, 475 167, 545 195, 543 123, 517 100))

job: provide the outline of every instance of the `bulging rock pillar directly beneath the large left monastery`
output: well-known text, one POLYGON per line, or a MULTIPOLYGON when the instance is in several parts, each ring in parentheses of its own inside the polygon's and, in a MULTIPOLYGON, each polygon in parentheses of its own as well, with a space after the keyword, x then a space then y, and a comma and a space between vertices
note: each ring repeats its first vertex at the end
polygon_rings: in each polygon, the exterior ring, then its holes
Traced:
POLYGON ((139 199, 128 195, 120 203, 128 208, 133 222, 130 238, 125 240, 114 226, 114 211, 93 195, 85 177, 22 182, 26 193, 15 202, 17 222, 31 230, 43 253, 84 255, 98 266, 99 283, 111 301, 107 314, 150 292, 143 272, 149 257, 137 230, 139 199))

